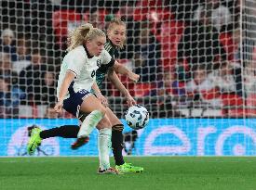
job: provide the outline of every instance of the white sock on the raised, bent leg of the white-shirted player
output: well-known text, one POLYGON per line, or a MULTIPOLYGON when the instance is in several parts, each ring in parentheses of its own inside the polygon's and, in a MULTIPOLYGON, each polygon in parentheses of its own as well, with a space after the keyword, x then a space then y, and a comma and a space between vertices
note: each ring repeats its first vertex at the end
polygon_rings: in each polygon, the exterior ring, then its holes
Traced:
POLYGON ((94 110, 90 114, 88 114, 86 119, 81 124, 77 137, 80 138, 88 136, 94 130, 94 128, 102 118, 103 115, 99 110, 94 110))

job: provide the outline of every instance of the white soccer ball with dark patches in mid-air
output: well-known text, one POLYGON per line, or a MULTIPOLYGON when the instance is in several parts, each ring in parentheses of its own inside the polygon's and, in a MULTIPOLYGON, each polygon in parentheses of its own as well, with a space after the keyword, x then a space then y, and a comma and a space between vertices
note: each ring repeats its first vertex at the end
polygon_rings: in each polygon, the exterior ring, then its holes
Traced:
POLYGON ((149 121, 149 112, 141 105, 135 105, 128 108, 125 113, 125 119, 129 127, 139 130, 147 125, 149 121))

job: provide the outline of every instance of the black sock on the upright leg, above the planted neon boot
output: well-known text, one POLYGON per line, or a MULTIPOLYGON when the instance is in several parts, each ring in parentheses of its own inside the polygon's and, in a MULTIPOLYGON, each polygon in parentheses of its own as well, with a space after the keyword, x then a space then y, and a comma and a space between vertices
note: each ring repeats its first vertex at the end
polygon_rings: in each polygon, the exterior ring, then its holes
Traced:
POLYGON ((125 163, 122 150, 123 150, 123 129, 124 125, 118 124, 112 127, 112 147, 115 158, 115 165, 119 166, 125 163))

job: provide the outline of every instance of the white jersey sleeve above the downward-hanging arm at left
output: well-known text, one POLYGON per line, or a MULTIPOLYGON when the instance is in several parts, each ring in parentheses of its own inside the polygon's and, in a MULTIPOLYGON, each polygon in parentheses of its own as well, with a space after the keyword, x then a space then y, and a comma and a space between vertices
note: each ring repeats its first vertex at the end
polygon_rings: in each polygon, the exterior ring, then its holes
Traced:
POLYGON ((71 52, 71 55, 67 58, 67 70, 73 72, 75 77, 77 77, 80 75, 80 71, 83 69, 85 61, 85 58, 77 52, 71 52))

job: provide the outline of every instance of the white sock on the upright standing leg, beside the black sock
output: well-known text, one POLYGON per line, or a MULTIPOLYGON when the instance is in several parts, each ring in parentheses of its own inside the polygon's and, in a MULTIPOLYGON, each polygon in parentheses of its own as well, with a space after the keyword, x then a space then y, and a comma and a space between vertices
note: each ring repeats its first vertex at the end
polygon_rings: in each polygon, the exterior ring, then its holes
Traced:
POLYGON ((98 136, 100 170, 106 170, 110 168, 109 154, 111 150, 111 135, 112 130, 104 128, 100 130, 98 136))

